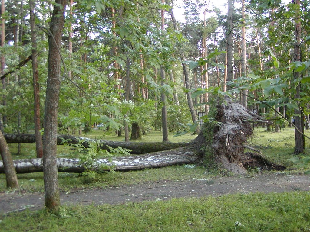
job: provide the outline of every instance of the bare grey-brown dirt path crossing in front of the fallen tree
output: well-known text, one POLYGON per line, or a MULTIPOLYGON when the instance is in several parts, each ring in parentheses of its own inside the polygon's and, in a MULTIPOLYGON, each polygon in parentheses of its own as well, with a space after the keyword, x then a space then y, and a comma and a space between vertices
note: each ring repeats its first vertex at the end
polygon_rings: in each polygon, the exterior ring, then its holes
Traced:
MULTIPOLYGON (((220 177, 171 182, 160 181, 128 187, 62 192, 61 204, 119 204, 249 192, 309 191, 309 175, 265 173, 247 177, 220 177)), ((43 193, 0 193, 0 214, 44 206, 43 193)))

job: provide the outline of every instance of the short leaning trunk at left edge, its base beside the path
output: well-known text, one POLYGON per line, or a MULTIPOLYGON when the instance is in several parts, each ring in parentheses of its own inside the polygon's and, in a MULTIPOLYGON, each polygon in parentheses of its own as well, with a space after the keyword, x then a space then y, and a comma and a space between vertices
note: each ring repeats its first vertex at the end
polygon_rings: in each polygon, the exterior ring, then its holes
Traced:
POLYGON ((1 131, 0 131, 0 153, 2 157, 1 162, 3 167, 2 173, 5 173, 5 177, 7 179, 7 188, 11 189, 18 188, 18 180, 13 160, 11 157, 11 152, 1 131))

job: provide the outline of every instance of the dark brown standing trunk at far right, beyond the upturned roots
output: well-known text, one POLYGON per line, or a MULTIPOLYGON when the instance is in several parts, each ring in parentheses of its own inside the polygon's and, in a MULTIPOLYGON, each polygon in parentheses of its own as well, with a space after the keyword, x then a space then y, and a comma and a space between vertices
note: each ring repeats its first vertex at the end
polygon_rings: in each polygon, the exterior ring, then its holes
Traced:
MULTIPOLYGON (((296 4, 297 12, 295 13, 295 42, 294 42, 294 61, 300 61, 300 35, 301 35, 301 23, 300 23, 300 0, 293 0, 293 3, 296 4)), ((299 78, 299 72, 294 72, 294 79, 299 78)), ((297 103, 299 105, 299 98, 300 98, 300 82, 296 87, 296 93, 294 95, 294 99, 297 99, 297 103)), ((301 110, 299 109, 294 110, 294 123, 299 131, 303 131, 303 125, 301 120, 301 110)), ((299 133, 295 128, 295 150, 294 154, 303 153, 303 144, 304 144, 304 137, 301 133, 299 133)))

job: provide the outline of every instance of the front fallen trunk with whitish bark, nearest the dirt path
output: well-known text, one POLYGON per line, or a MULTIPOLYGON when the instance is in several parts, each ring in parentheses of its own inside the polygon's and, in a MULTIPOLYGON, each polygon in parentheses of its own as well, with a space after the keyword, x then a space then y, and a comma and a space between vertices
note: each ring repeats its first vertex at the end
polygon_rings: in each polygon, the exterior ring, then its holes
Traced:
MULTIPOLYGON (((112 166, 115 171, 130 171, 145 168, 160 168, 169 165, 193 164, 200 158, 201 156, 197 154, 195 148, 187 147, 139 156, 118 157, 113 158, 111 161, 99 159, 96 163, 98 165, 105 164, 112 166)), ((14 160, 14 166, 17 173, 42 172, 43 160, 41 158, 14 160)), ((57 168, 59 172, 82 173, 85 171, 80 159, 58 158, 57 168)), ((110 171, 110 169, 103 171, 110 171)), ((0 161, 0 173, 4 173, 2 161, 0 161)))

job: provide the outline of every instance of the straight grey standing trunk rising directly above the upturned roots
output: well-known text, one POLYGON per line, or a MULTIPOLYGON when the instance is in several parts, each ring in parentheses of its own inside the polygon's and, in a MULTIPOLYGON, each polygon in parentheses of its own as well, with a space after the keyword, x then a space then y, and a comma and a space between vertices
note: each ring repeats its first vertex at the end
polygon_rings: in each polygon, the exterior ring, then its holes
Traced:
POLYGON ((227 13, 227 81, 233 80, 233 14, 234 0, 228 0, 227 13))

